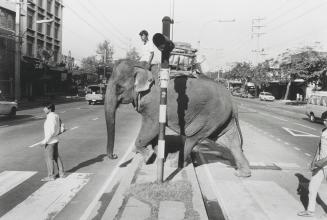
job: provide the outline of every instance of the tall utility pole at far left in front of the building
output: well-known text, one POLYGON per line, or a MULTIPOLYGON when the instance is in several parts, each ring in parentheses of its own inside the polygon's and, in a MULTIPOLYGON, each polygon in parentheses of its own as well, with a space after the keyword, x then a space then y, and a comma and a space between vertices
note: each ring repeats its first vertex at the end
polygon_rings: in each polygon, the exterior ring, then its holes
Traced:
POLYGON ((16 0, 16 18, 15 18, 15 99, 20 100, 20 59, 21 59, 21 0, 16 0))

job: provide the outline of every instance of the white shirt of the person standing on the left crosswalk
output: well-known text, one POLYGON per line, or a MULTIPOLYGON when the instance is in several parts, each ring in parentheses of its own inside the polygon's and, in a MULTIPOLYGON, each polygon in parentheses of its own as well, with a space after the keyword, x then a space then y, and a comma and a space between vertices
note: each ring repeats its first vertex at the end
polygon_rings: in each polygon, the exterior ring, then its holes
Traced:
POLYGON ((42 144, 54 144, 57 143, 58 134, 60 131, 59 116, 54 112, 49 112, 44 122, 44 139, 42 144))

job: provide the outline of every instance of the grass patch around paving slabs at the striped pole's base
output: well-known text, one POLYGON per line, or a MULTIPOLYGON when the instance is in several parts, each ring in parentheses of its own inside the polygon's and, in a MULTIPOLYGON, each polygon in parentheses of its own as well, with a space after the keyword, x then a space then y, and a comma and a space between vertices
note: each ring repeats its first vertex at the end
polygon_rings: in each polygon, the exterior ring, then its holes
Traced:
POLYGON ((128 197, 145 202, 151 206, 151 217, 147 220, 158 219, 161 201, 179 201, 185 205, 185 220, 198 220, 199 214, 193 209, 192 185, 188 181, 134 184, 126 192, 128 197))

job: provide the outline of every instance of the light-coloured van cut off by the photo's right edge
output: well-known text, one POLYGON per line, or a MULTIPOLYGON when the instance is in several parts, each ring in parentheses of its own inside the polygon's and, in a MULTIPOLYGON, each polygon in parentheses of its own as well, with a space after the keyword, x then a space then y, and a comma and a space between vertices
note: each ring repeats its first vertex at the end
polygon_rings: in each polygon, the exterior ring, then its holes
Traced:
POLYGON ((322 120, 324 113, 327 112, 327 92, 314 92, 309 97, 306 105, 306 115, 311 122, 317 119, 322 120))

